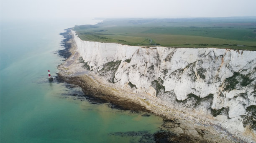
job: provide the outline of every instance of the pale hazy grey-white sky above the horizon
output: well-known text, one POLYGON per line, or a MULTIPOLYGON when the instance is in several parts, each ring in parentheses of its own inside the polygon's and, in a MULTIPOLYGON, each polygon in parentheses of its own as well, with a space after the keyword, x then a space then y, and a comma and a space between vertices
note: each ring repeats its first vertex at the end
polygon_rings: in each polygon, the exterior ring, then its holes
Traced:
POLYGON ((256 0, 1 0, 1 20, 256 16, 256 0))

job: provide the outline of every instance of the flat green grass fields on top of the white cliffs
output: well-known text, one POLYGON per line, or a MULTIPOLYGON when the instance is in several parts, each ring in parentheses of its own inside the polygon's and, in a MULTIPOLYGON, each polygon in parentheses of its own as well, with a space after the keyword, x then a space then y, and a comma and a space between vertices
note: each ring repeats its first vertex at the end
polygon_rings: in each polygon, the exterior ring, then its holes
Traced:
POLYGON ((73 28, 82 40, 256 50, 256 18, 121 19, 73 28))

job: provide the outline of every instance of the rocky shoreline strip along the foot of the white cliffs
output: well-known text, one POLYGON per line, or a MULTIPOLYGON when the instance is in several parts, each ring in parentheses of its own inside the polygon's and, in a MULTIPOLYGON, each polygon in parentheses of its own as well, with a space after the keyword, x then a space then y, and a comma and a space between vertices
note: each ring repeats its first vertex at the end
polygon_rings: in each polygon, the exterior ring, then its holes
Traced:
MULTIPOLYGON (((67 31, 66 35, 71 35, 67 31)), ((58 66, 59 77, 69 84, 75 84, 82 88, 85 96, 93 96, 112 103, 118 108, 131 111, 145 111, 154 113, 164 119, 161 133, 155 134, 159 140, 168 142, 253 142, 241 135, 231 133, 218 121, 198 116, 195 113, 179 111, 167 106, 164 101, 156 96, 136 94, 115 87, 113 84, 104 81, 97 74, 84 68, 84 63, 79 61, 79 53, 76 51, 76 44, 72 37, 64 37, 65 49, 67 52, 59 52, 59 55, 66 57, 66 61, 58 66), (162 140, 161 140, 162 138, 162 140)))

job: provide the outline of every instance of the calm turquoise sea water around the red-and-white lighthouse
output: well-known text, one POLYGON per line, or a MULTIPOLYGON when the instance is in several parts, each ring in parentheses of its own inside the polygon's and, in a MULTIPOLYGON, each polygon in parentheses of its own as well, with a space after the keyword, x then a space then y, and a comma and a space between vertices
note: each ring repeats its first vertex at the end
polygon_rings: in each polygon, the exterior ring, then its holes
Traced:
POLYGON ((56 76, 62 62, 54 54, 61 48, 59 33, 72 26, 1 22, 1 143, 138 142, 143 133, 159 130, 157 116, 81 101, 70 96, 82 94, 78 87, 48 81, 48 69, 56 76))

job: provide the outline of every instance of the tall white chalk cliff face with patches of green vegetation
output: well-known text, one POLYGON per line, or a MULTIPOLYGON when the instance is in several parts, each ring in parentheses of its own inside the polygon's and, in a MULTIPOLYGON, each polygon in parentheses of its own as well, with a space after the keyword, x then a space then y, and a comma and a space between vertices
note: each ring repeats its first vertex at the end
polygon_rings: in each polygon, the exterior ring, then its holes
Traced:
POLYGON ((108 82, 256 130, 256 51, 127 46, 72 33, 87 69, 108 82))

